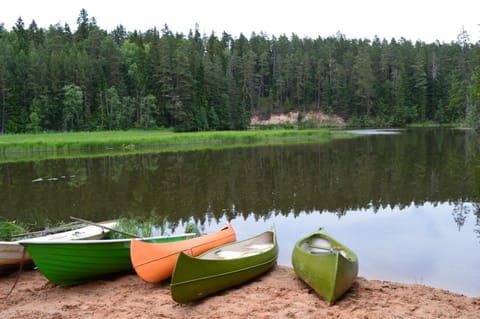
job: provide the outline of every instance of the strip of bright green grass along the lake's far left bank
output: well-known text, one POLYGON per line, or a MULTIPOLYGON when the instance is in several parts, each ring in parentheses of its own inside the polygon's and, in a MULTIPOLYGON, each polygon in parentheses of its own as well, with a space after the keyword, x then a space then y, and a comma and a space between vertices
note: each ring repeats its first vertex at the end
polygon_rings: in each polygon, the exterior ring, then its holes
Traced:
POLYGON ((258 130, 174 133, 103 131, 0 135, 0 163, 162 151, 329 141, 348 136, 328 130, 258 130))

